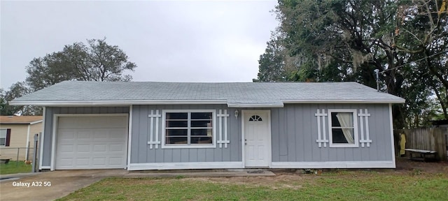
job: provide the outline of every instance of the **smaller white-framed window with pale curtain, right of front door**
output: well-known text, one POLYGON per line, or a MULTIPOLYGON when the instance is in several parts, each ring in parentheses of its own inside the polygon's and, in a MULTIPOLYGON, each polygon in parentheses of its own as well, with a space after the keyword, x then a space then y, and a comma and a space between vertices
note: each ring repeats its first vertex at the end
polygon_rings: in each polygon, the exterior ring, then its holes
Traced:
POLYGON ((330 147, 358 147, 356 110, 328 110, 330 147))

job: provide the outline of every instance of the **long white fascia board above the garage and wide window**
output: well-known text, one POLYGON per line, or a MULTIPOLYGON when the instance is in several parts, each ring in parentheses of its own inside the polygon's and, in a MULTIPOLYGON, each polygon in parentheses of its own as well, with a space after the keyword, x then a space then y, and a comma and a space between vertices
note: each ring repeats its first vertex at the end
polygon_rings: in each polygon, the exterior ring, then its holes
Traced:
POLYGON ((227 104, 225 100, 147 100, 147 101, 10 101, 9 105, 38 106, 129 106, 129 105, 218 105, 227 104))

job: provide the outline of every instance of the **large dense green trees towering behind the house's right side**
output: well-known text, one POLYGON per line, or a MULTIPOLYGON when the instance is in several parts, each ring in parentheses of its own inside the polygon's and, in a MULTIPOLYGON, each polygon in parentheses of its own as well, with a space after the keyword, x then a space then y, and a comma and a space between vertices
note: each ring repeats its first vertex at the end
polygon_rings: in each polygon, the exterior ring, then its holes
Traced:
POLYGON ((381 90, 407 100, 393 106, 395 126, 415 125, 405 118, 426 111, 429 105, 423 103, 432 94, 447 103, 447 93, 437 92, 448 89, 443 54, 448 18, 440 5, 441 0, 279 1, 278 29, 284 37, 278 43, 299 60, 285 73, 291 81, 356 81, 376 87, 373 70, 378 69, 381 90))

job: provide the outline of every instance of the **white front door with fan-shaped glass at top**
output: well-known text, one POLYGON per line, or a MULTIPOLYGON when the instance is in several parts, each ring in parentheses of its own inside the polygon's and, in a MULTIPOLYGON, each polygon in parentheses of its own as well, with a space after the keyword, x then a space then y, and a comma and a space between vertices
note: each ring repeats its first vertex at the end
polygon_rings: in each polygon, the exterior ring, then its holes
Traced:
POLYGON ((246 167, 269 167, 271 152, 269 110, 245 110, 242 117, 246 167))

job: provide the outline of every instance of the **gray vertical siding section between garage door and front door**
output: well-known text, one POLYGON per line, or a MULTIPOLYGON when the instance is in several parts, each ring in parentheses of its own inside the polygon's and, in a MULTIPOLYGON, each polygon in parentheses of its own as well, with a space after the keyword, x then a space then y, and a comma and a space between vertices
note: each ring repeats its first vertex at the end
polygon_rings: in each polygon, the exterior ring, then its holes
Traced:
MULTIPOLYGON (((131 163, 183 163, 183 162, 230 162, 241 161, 241 117, 235 118, 235 109, 227 105, 133 105, 131 163), (150 149, 148 145, 150 111, 159 110, 228 110, 228 147, 216 148, 164 148, 150 149)), ((215 114, 216 115, 216 114, 215 114)), ((216 122, 215 122, 216 123, 216 122)), ((159 121, 159 128, 164 122, 159 121)), ((216 130, 218 130, 218 124, 216 130)), ((224 128, 222 128, 224 130, 224 128)), ((158 139, 162 139, 162 129, 158 129, 158 139)), ((218 131, 216 131, 216 137, 218 131)), ((217 139, 214 139, 217 140, 217 139)))

